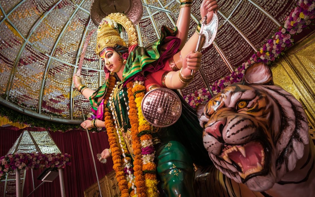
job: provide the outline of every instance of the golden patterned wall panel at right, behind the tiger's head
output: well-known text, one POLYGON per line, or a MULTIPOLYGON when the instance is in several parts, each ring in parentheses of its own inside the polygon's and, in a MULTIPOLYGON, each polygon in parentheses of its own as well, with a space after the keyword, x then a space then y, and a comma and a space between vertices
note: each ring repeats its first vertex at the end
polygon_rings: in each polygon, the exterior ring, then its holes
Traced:
POLYGON ((314 127, 315 117, 315 31, 296 43, 272 65, 273 81, 301 99, 314 127))

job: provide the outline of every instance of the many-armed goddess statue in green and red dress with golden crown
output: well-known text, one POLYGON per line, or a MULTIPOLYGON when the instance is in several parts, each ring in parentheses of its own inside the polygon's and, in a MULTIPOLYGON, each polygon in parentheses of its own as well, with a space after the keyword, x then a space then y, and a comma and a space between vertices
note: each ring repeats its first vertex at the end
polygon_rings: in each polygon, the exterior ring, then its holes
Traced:
MULTIPOLYGON (((186 42, 191 6, 192 0, 180 0, 175 29, 162 26, 161 38, 146 47, 137 45, 136 31, 128 17, 109 14, 98 27, 96 43, 96 53, 105 63, 106 81, 97 90, 90 90, 81 78, 73 77, 77 90, 89 99, 96 116, 81 126, 106 128, 110 149, 105 149, 101 157, 112 156, 123 197, 193 197, 193 163, 210 162, 202 144, 202 128, 189 107, 183 106, 174 125, 163 128, 146 121, 141 111, 147 91, 158 87, 182 89, 200 67, 202 53, 194 49, 201 23, 186 42), (128 34, 128 46, 117 32, 121 27, 128 34)), ((206 24, 215 9, 214 0, 201 4, 200 14, 201 18, 207 16, 206 24)))

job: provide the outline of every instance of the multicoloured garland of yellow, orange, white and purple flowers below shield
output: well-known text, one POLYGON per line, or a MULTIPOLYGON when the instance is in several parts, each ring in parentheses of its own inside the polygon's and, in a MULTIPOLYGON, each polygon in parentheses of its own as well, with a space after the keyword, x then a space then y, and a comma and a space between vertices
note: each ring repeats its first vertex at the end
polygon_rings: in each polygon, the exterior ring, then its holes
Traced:
MULTIPOLYGON (((135 102, 138 109, 139 133, 152 130, 152 125, 150 125, 150 123, 146 121, 141 110, 141 101, 145 96, 145 91, 146 88, 140 83, 135 84, 135 87, 132 89, 132 92, 135 95, 135 102)), ((150 172, 145 174, 144 184, 146 185, 146 194, 149 197, 157 197, 157 179, 156 174, 154 173, 156 171, 156 164, 153 163, 155 151, 152 143, 152 136, 150 134, 145 134, 140 137, 140 140, 142 149, 144 149, 144 154, 142 154, 142 171, 150 172), (149 153, 145 153, 146 150, 149 150, 149 153)))

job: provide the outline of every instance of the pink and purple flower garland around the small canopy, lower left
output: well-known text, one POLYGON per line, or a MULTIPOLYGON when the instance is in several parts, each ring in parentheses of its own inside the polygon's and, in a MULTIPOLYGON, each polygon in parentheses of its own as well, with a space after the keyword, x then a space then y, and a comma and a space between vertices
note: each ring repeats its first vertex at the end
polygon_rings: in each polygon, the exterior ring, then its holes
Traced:
POLYGON ((65 168, 71 165, 70 154, 15 153, 0 158, 0 180, 16 169, 65 168))

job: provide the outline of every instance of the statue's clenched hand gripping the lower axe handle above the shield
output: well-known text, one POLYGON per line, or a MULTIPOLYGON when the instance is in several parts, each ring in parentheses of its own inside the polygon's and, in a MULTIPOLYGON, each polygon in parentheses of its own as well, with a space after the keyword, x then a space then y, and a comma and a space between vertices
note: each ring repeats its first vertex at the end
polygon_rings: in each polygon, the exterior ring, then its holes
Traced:
POLYGON ((183 59, 182 69, 182 74, 184 77, 189 78, 191 76, 192 70, 194 70, 194 72, 198 71, 201 63, 201 56, 202 53, 195 53, 194 51, 191 51, 186 55, 186 58, 183 59))

